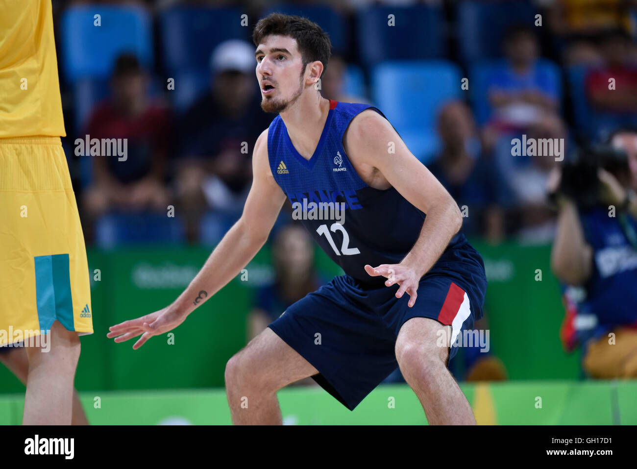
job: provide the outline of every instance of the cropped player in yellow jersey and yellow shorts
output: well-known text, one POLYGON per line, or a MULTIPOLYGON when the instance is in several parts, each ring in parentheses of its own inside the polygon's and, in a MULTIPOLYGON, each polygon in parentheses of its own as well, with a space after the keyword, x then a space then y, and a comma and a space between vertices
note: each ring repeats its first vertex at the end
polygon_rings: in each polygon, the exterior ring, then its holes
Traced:
POLYGON ((51 1, 3 0, 0 12, 0 346, 26 346, 26 375, 24 354, 3 357, 26 379, 22 423, 68 425, 78 335, 93 326, 51 1))

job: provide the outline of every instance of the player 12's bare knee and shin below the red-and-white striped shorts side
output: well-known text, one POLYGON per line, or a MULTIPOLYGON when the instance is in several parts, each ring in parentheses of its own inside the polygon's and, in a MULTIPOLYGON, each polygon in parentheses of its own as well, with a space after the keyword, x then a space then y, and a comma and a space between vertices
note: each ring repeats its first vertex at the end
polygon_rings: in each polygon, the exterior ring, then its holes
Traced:
POLYGON ((427 317, 412 317, 398 333, 396 359, 429 424, 475 425, 469 401, 447 368, 450 336, 451 326, 427 317), (447 338, 443 347, 440 337, 447 338))

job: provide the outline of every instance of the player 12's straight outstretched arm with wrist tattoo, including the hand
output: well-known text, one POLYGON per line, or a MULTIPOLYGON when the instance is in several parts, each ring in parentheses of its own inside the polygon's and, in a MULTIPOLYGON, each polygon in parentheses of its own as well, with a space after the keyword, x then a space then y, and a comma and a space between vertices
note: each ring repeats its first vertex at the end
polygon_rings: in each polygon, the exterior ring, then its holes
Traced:
POLYGON ((254 145, 253 180, 241 218, 229 229, 190 285, 162 310, 111 326, 109 338, 124 342, 142 335, 139 349, 151 336, 176 328, 197 307, 238 275, 268 240, 285 194, 276 184, 268 163, 268 129, 254 145))

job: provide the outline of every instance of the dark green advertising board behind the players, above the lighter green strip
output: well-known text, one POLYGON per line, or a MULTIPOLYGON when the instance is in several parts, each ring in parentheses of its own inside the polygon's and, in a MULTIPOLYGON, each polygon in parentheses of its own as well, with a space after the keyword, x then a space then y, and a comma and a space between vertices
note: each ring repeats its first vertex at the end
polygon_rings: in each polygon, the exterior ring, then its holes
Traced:
MULTIPOLYGON (((550 247, 475 243, 485 260, 489 287, 485 312, 490 348, 512 380, 576 379, 578 356, 559 342, 564 315, 550 273, 550 247), (541 276, 538 277, 538 271, 541 276)), ((185 389, 224 385, 227 359, 246 343, 246 318, 255 288, 271 278, 269 247, 244 274, 198 308, 173 336, 156 336, 141 349, 133 340, 114 343, 108 327, 159 310, 187 287, 210 249, 157 247, 89 249, 94 334, 83 336, 76 387, 85 390, 185 389)), ((340 267, 317 249, 317 268, 327 277, 340 267)), ((24 387, 0 367, 0 393, 24 387)))

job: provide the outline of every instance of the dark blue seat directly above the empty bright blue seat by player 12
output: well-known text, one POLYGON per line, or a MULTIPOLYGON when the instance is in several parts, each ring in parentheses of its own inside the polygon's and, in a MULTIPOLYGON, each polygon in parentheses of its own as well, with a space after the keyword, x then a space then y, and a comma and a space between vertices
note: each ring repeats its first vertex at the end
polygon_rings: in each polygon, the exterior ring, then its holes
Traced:
POLYGON ((359 58, 366 66, 381 61, 441 59, 447 53, 441 7, 371 6, 357 12, 359 58), (390 26, 389 15, 394 15, 390 26))

